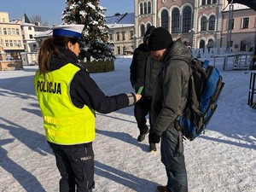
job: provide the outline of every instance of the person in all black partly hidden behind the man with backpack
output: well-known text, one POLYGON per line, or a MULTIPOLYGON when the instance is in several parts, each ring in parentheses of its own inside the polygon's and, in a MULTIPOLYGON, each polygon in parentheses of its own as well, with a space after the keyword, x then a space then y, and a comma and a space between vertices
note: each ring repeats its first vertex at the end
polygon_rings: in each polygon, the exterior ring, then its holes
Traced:
MULTIPOLYGON (((160 62, 152 59, 148 49, 148 38, 150 37, 154 28, 154 26, 148 27, 148 30, 145 32, 143 38, 143 44, 139 44, 137 49, 134 51, 130 67, 131 86, 136 92, 140 89, 140 87, 143 87, 142 98, 135 104, 134 107, 134 115, 135 119, 137 120, 137 127, 140 131, 140 134, 137 137, 138 142, 143 142, 148 134, 149 129, 148 125, 146 125, 146 116, 148 114, 150 130, 152 130, 153 127, 150 120, 150 109, 154 91, 154 81, 160 68, 160 62)), ((156 151, 155 143, 150 141, 150 137, 148 138, 149 151, 156 151)))

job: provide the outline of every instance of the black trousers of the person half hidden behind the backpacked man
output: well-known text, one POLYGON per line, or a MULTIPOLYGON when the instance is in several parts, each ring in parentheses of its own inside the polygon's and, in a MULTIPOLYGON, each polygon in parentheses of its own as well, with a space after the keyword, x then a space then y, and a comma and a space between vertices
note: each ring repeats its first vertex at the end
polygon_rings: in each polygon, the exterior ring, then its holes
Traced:
MULTIPOLYGON (((146 116, 149 115, 149 125, 150 125, 149 136, 150 136, 150 133, 153 131, 153 125, 150 120, 151 103, 152 103, 152 97, 143 96, 141 100, 135 104, 135 107, 134 107, 134 116, 137 121, 137 127, 140 131, 140 134, 145 134, 148 131, 148 125, 146 125, 147 124, 146 116)), ((150 141, 148 142, 151 143, 150 141)))

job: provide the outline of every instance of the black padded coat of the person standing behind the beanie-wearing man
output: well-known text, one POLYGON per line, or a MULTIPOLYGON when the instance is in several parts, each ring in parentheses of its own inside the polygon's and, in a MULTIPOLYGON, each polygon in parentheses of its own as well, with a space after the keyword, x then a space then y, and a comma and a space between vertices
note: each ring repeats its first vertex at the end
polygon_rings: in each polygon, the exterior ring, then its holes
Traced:
POLYGON ((131 86, 137 92, 143 86, 143 96, 153 96, 154 82, 161 63, 152 60, 146 44, 140 44, 134 51, 130 67, 131 86))

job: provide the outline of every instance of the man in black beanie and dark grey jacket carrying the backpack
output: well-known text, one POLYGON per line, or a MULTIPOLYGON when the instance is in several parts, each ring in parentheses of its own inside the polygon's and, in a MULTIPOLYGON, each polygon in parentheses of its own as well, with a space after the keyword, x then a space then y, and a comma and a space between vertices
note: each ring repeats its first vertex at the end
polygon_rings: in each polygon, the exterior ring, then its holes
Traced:
POLYGON ((183 140, 174 122, 187 104, 190 67, 185 60, 190 61, 192 55, 181 39, 173 42, 170 32, 163 27, 154 29, 148 40, 148 48, 155 60, 163 62, 156 79, 151 107, 154 125, 151 141, 160 143, 161 140, 161 161, 166 166, 168 181, 166 186, 158 186, 157 190, 188 192, 183 140))

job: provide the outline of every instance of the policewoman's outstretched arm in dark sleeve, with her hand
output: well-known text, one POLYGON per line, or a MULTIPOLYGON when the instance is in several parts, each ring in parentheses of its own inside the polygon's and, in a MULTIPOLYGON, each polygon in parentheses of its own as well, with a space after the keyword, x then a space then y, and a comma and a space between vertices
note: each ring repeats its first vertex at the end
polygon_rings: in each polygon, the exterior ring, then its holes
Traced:
POLYGON ((87 105, 99 113, 111 113, 135 103, 134 96, 128 97, 125 93, 105 96, 85 70, 75 74, 70 85, 70 95, 76 107, 83 108, 87 105))

